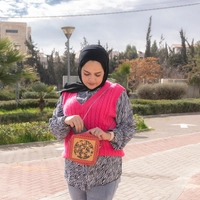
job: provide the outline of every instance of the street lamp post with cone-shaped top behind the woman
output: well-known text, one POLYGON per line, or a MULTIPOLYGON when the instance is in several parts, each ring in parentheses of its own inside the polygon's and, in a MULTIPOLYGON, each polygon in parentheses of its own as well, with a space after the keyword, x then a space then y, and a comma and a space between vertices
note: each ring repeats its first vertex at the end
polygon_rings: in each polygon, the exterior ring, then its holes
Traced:
POLYGON ((68 72, 67 72, 67 82, 69 83, 70 79, 70 54, 69 54, 69 38, 71 37, 75 27, 72 26, 65 26, 61 28, 65 36, 67 37, 67 55, 68 55, 68 72))

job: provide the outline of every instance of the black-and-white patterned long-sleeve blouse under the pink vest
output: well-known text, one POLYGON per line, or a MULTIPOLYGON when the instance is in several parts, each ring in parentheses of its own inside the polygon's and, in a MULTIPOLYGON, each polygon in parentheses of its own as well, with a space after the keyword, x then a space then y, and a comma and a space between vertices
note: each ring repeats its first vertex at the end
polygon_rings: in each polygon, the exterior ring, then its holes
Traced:
MULTIPOLYGON (((82 104, 95 92, 79 92, 77 100, 82 104)), ((57 102, 49 127, 54 136, 62 140, 70 131, 70 126, 64 123, 65 116, 62 108, 62 96, 57 102)), ((116 106, 116 127, 111 145, 114 149, 123 149, 135 134, 132 107, 126 92, 122 92, 116 106)), ((65 159, 65 178, 69 185, 81 190, 90 189, 98 185, 105 185, 121 176, 122 157, 99 156, 93 166, 80 165, 65 159)))

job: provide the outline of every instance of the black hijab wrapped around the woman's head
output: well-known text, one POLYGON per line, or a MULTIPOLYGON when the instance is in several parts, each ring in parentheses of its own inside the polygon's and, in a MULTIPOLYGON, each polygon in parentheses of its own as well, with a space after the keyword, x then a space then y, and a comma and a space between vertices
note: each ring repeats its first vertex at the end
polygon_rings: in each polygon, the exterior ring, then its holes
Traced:
POLYGON ((80 56, 79 56, 78 76, 81 82, 66 83, 61 93, 96 90, 97 88, 102 87, 105 84, 108 78, 108 73, 109 73, 109 56, 106 50, 100 45, 96 45, 96 44, 88 45, 81 50, 80 56), (81 69, 85 65, 85 63, 88 62, 89 60, 95 60, 95 61, 100 62, 104 70, 104 77, 103 77, 102 83, 98 87, 92 90, 90 90, 88 87, 86 87, 83 84, 82 77, 81 77, 81 69))

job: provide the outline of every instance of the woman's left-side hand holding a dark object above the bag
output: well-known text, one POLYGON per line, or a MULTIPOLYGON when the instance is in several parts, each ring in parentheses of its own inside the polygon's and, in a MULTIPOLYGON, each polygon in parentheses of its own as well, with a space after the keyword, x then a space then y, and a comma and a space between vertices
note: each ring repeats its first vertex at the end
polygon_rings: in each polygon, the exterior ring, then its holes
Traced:
POLYGON ((76 132, 80 133, 84 128, 83 119, 79 115, 72 115, 65 118, 65 124, 75 127, 76 132))

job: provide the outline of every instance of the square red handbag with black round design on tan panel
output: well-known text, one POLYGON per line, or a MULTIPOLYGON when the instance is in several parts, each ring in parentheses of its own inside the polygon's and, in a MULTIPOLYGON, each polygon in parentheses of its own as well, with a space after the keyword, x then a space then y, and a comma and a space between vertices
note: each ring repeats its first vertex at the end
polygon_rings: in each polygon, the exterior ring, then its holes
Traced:
POLYGON ((69 145, 69 159, 83 165, 94 165, 99 148, 99 139, 89 132, 73 134, 69 145))

